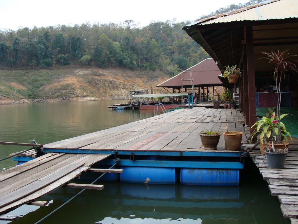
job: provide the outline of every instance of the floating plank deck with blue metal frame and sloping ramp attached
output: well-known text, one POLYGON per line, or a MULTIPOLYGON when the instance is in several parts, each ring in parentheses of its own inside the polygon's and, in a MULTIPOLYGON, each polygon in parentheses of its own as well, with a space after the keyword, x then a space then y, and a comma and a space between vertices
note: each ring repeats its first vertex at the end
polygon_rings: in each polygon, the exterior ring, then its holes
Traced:
POLYGON ((33 159, 35 153, 28 151, 21 157, 15 158, 29 158, 28 160, 32 159, 31 161, 0 173, 0 214, 35 201, 65 185, 82 172, 88 171, 94 163, 108 160, 114 163, 114 158, 108 157, 116 151, 119 155, 126 155, 125 158, 128 155, 131 157, 121 159, 120 163, 124 166, 144 165, 146 161, 135 160, 135 155, 172 156, 171 158, 202 156, 217 157, 223 161, 159 160, 150 161, 150 166, 205 168, 207 164, 208 168, 242 169, 243 161, 241 162, 239 158, 243 150, 224 150, 223 135, 220 138, 218 150, 204 150, 198 133, 204 128, 244 133, 243 121, 239 110, 183 108, 46 144, 44 151, 48 154, 33 159), (235 158, 235 161, 222 159, 227 157, 235 158))

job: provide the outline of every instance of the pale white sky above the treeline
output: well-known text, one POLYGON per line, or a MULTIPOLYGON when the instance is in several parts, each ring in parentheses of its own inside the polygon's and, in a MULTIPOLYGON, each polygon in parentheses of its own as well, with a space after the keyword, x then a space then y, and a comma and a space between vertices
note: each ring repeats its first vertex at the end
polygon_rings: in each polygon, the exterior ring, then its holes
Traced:
POLYGON ((249 0, 0 0, 0 30, 94 23, 124 23, 134 20, 140 27, 151 21, 176 22, 249 0))

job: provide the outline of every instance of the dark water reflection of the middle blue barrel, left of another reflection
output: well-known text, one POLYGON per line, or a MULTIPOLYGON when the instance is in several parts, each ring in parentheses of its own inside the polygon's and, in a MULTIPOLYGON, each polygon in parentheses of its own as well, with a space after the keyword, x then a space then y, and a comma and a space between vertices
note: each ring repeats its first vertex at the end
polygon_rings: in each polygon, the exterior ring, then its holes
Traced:
POLYGON ((131 184, 121 183, 121 195, 147 199, 175 199, 174 184, 131 184))

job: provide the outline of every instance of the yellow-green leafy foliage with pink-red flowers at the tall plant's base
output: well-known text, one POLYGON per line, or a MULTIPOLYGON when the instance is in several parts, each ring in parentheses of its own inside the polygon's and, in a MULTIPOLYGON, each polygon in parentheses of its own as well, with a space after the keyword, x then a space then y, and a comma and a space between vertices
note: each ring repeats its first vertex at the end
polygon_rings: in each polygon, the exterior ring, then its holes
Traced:
POLYGON ((288 132, 286 129, 290 128, 285 126, 284 123, 280 121, 286 115, 292 114, 283 113, 279 117, 277 117, 277 115, 275 115, 275 112, 273 112, 269 116, 263 116, 262 119, 258 120, 252 126, 252 128, 256 126, 253 136, 260 134, 260 142, 262 144, 268 144, 269 142, 277 142, 278 136, 282 136, 282 139, 284 138, 286 142, 288 142, 287 136, 289 136, 292 140, 290 132, 288 132))

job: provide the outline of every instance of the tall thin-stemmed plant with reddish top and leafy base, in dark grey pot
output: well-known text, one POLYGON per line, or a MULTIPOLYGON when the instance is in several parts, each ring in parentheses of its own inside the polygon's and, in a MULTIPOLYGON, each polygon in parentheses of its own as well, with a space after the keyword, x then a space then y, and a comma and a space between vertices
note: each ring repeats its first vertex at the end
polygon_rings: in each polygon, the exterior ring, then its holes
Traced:
MULTIPOLYGON (((288 141, 285 134, 288 136, 291 135, 286 130, 285 125, 280 120, 288 115, 288 114, 280 114, 280 105, 281 105, 281 90, 280 84, 283 77, 285 77, 286 72, 298 72, 298 69, 295 65, 297 60, 289 60, 289 57, 296 55, 289 55, 288 50, 277 51, 277 52, 263 52, 267 55, 267 57, 263 57, 269 60, 269 63, 275 66, 275 70, 273 73, 273 77, 275 80, 275 85, 277 89, 277 113, 272 113, 270 119, 261 119, 257 121, 257 131, 261 130, 260 141, 267 144, 267 148, 265 150, 267 157, 267 165, 270 168, 281 169, 284 167, 285 157, 288 153, 288 144, 286 144, 282 137, 288 141), (271 143, 269 143, 271 142, 271 143), (278 149, 278 147, 282 147, 282 149, 278 149)), ((292 139, 292 138, 291 138, 292 139)))

